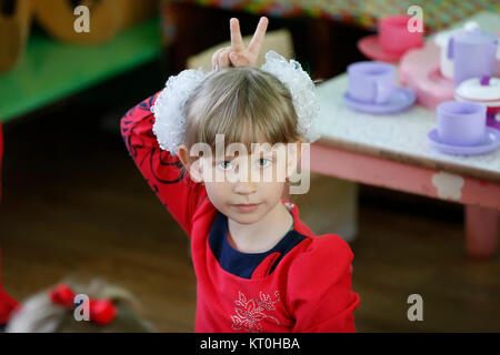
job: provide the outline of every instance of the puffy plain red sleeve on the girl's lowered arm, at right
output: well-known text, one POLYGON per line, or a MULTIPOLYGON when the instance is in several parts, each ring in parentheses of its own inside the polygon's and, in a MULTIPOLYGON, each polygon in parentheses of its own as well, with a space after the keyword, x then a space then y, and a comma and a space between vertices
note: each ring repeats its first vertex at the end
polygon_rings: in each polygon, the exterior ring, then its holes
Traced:
POLYGON ((290 267, 287 301, 297 333, 356 332, 353 311, 360 303, 351 290, 353 255, 338 235, 312 240, 290 267))

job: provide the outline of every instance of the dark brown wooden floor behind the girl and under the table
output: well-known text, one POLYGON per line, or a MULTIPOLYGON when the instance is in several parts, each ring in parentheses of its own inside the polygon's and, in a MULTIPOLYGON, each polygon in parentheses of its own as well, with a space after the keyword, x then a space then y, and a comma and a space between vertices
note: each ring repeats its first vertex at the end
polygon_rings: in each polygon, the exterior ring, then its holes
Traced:
MULTIPOLYGON (((4 287, 22 300, 69 274, 98 275, 134 293, 159 331, 191 332, 187 236, 129 158, 122 112, 96 110, 104 108, 77 100, 4 126, 4 287)), ((324 222, 314 221, 331 219, 330 184, 314 176, 297 201, 317 233, 324 222)), ((359 332, 500 332, 500 257, 466 258, 461 206, 361 186, 358 216, 359 332), (414 293, 422 322, 407 318, 414 293)))

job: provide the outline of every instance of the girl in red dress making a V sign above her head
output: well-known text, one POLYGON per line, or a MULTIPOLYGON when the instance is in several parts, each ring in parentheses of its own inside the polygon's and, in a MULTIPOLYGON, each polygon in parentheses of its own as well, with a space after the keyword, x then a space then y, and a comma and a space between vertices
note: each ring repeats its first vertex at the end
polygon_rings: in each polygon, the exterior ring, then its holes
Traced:
POLYGON ((354 332, 359 296, 351 291, 349 245, 311 232, 298 207, 281 199, 284 180, 248 179, 290 176, 311 141, 313 83, 299 63, 273 51, 253 68, 266 18, 248 49, 236 19, 230 27, 231 48, 213 54, 214 70, 169 78, 163 91, 121 120, 130 155, 191 237, 194 331, 354 332), (224 155, 231 143, 247 149, 224 155), (279 165, 274 150, 253 154, 252 143, 299 149, 287 151, 286 165, 279 165), (214 161, 207 150, 193 158, 200 144, 218 151, 214 161), (224 179, 213 181, 218 173, 224 179))

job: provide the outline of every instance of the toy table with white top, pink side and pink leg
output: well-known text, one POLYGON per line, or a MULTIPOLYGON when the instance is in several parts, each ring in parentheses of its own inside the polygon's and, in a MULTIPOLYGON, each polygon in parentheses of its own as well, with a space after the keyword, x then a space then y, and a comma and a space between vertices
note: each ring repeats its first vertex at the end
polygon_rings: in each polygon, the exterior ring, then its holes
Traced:
POLYGON ((432 151, 427 133, 436 112, 420 105, 391 115, 349 110, 342 101, 346 73, 318 87, 321 139, 311 144, 311 172, 466 206, 466 248, 487 257, 497 248, 500 149, 478 156, 432 151))

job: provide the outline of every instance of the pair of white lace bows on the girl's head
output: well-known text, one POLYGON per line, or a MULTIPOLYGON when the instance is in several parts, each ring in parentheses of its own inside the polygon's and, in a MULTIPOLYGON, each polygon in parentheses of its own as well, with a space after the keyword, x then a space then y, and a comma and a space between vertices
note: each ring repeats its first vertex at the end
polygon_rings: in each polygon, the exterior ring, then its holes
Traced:
MULTIPOLYGON (((299 119, 299 133, 309 143, 317 141, 320 135, 312 124, 319 113, 319 104, 314 83, 309 74, 302 70, 299 62, 294 60, 287 62, 273 50, 266 54, 266 63, 260 69, 276 75, 290 91, 299 119)), ((186 102, 207 75, 208 73, 199 68, 186 69, 178 75, 170 77, 151 106, 156 119, 152 131, 160 148, 173 155, 177 155, 179 146, 184 142, 186 102)))

